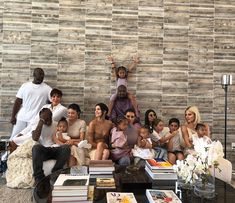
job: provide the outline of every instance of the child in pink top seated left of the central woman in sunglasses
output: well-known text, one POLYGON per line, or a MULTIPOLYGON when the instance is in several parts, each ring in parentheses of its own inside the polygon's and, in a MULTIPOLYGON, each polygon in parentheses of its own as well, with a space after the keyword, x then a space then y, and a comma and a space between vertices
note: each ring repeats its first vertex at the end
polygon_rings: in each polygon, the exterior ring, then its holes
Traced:
POLYGON ((127 145, 127 136, 124 133, 128 126, 127 119, 118 117, 116 126, 111 130, 111 159, 119 165, 130 165, 131 149, 127 145))

